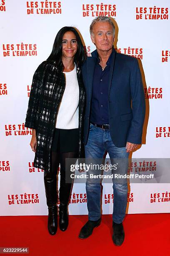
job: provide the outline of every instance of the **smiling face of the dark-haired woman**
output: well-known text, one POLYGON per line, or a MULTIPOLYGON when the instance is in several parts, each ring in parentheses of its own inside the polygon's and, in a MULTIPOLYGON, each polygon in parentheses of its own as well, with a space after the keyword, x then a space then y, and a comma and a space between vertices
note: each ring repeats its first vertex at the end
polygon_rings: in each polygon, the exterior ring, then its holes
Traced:
POLYGON ((62 56, 65 58, 73 58, 77 51, 77 39, 72 31, 64 33, 62 38, 62 56))

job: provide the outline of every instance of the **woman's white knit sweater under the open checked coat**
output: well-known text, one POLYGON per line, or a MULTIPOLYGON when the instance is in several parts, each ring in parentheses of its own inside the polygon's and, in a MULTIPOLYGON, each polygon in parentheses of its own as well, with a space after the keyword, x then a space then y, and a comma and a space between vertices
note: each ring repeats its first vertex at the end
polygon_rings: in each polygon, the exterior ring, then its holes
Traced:
POLYGON ((76 66, 65 74, 65 91, 57 113, 55 127, 59 129, 78 128, 79 86, 76 66))

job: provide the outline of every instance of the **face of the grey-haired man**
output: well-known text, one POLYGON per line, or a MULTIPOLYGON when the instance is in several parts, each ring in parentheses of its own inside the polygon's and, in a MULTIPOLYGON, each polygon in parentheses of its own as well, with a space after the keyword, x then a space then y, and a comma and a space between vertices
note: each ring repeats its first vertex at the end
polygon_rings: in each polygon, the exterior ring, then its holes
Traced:
POLYGON ((96 22, 92 29, 91 39, 97 50, 109 51, 115 41, 113 28, 109 22, 96 22))

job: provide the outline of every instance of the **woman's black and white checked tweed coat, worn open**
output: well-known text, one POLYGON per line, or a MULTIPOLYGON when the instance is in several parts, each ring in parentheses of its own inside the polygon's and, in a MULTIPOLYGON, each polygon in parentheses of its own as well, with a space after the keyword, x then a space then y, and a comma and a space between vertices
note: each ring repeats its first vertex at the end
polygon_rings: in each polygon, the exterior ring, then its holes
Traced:
MULTIPOLYGON (((79 84, 79 158, 82 158, 84 157, 85 89, 80 67, 77 67, 77 80, 79 84)), ((57 111, 64 90, 65 76, 62 73, 62 67, 56 67, 55 61, 43 61, 33 76, 25 127, 36 130, 37 148, 34 166, 47 172, 50 172, 50 149, 55 131, 57 111)))

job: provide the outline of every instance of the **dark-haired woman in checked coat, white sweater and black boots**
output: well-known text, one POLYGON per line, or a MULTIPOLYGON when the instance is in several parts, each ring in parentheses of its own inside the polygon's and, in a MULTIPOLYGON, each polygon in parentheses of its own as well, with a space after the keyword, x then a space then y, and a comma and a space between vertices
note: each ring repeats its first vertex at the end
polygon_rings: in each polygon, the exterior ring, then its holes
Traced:
POLYGON ((63 27, 57 33, 50 56, 37 68, 32 81, 25 126, 32 128, 34 166, 44 169, 51 235, 57 231, 57 169, 60 164, 59 226, 65 231, 72 186, 65 181, 65 174, 70 171, 65 159, 83 157, 84 152, 85 90, 80 69, 84 60, 79 34, 73 27, 63 27))

